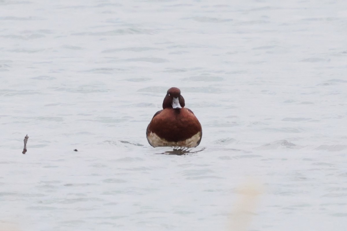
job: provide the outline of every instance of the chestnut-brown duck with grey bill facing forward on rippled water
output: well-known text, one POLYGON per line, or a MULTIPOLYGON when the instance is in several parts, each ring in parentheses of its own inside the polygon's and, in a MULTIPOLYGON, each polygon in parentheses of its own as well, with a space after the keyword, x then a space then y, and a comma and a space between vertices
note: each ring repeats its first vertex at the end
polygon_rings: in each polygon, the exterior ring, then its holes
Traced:
POLYGON ((170 88, 163 100, 163 109, 154 114, 147 126, 146 136, 151 146, 193 148, 200 144, 201 124, 192 110, 184 106, 181 90, 170 88))

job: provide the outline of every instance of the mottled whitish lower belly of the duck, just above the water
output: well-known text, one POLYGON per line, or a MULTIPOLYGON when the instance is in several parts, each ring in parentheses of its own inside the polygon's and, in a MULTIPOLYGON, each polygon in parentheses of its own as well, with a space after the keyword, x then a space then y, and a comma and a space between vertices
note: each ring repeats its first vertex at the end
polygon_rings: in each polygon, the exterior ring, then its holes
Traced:
POLYGON ((201 137, 201 132, 198 132, 185 141, 170 142, 165 139, 161 139, 158 135, 151 132, 150 135, 147 137, 147 139, 149 140, 149 142, 152 144, 153 147, 179 146, 179 147, 193 148, 197 146, 197 143, 199 142, 200 137, 201 137))

